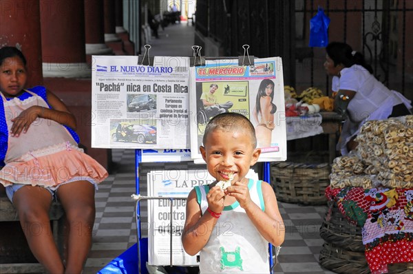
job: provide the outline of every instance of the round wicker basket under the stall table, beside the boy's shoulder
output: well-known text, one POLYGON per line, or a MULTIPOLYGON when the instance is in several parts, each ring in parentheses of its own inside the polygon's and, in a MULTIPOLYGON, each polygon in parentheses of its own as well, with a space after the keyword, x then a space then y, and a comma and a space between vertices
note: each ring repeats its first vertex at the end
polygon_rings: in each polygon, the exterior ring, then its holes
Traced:
POLYGON ((271 166, 271 185, 277 200, 299 204, 326 204, 330 165, 277 162, 271 166))

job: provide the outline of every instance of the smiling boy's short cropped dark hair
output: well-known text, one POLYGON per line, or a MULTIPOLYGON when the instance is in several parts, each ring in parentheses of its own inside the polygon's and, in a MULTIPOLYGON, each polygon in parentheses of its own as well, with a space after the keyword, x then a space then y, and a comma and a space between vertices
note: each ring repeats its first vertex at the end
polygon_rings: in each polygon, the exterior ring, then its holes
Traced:
POLYGON ((235 129, 244 130, 247 134, 251 135, 251 139, 253 140, 253 148, 255 149, 257 147, 257 137, 255 136, 254 126, 251 121, 242 114, 238 114, 236 112, 225 112, 213 117, 205 128, 204 137, 202 138, 202 145, 205 145, 208 134, 217 129, 222 131, 234 131, 235 129))

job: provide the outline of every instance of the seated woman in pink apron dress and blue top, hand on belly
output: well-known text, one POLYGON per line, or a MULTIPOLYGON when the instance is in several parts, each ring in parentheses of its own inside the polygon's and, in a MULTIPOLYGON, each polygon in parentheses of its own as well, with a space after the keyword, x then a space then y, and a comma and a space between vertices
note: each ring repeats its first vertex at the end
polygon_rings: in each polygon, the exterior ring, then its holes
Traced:
POLYGON ((21 51, 1 48, 0 184, 47 273, 81 273, 92 244, 95 189, 107 171, 78 147, 74 115, 45 87, 26 89, 27 76, 21 51), (50 233, 53 200, 61 202, 67 221, 64 261, 50 233))

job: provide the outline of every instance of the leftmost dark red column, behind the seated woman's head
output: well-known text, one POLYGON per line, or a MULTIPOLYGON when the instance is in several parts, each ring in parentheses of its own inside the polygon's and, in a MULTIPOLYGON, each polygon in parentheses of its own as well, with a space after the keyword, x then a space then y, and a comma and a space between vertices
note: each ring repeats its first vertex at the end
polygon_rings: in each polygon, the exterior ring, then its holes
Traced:
POLYGON ((27 87, 43 85, 39 0, 0 0, 0 48, 17 46, 28 64, 27 87))

